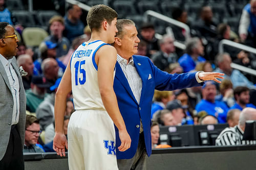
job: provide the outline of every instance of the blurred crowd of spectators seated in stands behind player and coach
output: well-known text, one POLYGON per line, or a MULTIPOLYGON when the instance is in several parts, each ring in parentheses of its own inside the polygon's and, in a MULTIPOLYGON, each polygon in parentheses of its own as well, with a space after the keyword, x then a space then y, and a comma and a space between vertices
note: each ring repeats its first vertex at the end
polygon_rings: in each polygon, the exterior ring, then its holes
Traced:
MULTIPOLYGON (((208 4, 202 4, 200 15, 193 23, 188 21, 188 8, 173 8, 169 16, 190 27, 189 39, 185 37, 186 31, 176 26, 172 26, 173 34, 164 33, 162 38, 157 38, 153 22, 138 23, 135 20, 140 38, 138 55, 149 57, 159 69, 170 74, 213 70, 225 74, 221 84, 209 81, 202 87, 155 91, 152 102, 153 148, 158 143, 161 126, 228 123, 230 127, 235 127, 232 133, 243 132, 240 126, 244 123, 240 122, 239 115, 242 110, 241 114, 245 114, 245 108, 256 108, 256 98, 252 96, 256 91, 256 79, 233 69, 231 63, 255 69, 256 58, 253 54, 229 46, 224 46, 225 53, 219 54, 218 45, 221 40, 227 39, 255 47, 255 9, 256 1, 247 4, 240 11, 239 27, 232 30, 227 23, 216 22, 214 16, 222 14, 212 12, 208 4), (184 43, 185 50, 175 47, 175 41, 184 43)), ((65 15, 60 12, 62 16, 51 16, 45 30, 48 31, 47 36, 41 37, 38 45, 31 46, 25 43, 25 24, 17 22, 5 1, 0 1, 0 21, 15 26, 19 37, 17 63, 28 72, 23 77, 28 112, 24 152, 53 151, 55 92, 71 55, 80 44, 90 39, 90 29, 85 27, 87 23, 81 18, 83 12, 77 5, 69 5, 65 15)), ((67 96, 66 129, 69 116, 74 111, 72 101, 71 92, 67 96)), ((250 118, 254 119, 253 116, 250 118)), ((234 141, 239 142, 240 138, 234 141)), ((223 144, 223 139, 218 138, 217 143, 223 144)))

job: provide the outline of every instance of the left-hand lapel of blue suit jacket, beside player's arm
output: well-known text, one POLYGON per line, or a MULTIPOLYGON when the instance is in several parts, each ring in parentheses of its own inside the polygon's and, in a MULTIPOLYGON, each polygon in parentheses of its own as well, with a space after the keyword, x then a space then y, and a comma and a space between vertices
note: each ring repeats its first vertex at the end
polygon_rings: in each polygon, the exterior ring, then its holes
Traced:
POLYGON ((133 91, 125 77, 125 75, 123 74, 122 68, 119 65, 118 62, 116 62, 116 75, 115 77, 119 80, 119 82, 123 85, 123 87, 127 90, 127 92, 131 95, 132 99, 136 102, 137 100, 135 99, 135 96, 133 95, 133 91))

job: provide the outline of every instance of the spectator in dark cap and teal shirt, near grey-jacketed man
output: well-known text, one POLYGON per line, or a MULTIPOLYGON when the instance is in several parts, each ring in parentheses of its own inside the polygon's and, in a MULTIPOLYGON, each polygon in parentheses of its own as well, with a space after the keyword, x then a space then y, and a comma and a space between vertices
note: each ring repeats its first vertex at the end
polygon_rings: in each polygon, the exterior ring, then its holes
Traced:
POLYGON ((51 84, 46 81, 45 77, 33 76, 31 81, 31 89, 26 91, 26 110, 35 113, 37 107, 45 99, 46 88, 49 88, 50 86, 51 84))

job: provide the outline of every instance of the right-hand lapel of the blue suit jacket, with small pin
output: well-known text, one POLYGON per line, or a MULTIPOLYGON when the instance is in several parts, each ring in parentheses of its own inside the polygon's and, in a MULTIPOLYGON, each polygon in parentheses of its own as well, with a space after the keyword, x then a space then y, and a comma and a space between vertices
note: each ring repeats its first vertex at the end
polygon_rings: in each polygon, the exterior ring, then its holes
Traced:
POLYGON ((135 66, 135 68, 141 78, 141 81, 142 81, 142 89, 141 89, 141 95, 140 95, 140 101, 142 101, 143 95, 144 95, 144 92, 146 89, 147 78, 148 78, 148 75, 145 74, 145 70, 147 68, 145 67, 145 65, 142 62, 140 62, 138 60, 138 58, 136 56, 133 56, 133 61, 134 61, 134 66, 135 66))

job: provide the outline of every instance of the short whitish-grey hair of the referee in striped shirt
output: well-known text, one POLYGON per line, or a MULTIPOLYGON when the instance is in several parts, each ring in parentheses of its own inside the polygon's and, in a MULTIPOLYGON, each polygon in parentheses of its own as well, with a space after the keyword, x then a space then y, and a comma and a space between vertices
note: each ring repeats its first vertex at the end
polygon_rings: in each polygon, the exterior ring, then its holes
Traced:
POLYGON ((250 107, 244 108, 240 114, 238 124, 245 126, 246 120, 254 120, 253 117, 256 117, 256 109, 250 107))

